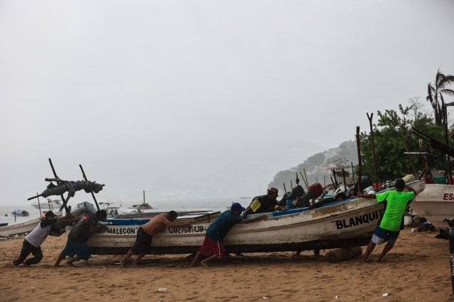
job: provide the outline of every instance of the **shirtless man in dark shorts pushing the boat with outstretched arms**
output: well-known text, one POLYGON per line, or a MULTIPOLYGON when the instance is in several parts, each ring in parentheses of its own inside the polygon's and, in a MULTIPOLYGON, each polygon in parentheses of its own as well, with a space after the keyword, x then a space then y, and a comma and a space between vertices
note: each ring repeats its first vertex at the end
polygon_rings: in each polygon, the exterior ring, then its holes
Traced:
POLYGON ((133 267, 137 265, 137 262, 142 259, 145 254, 148 254, 151 250, 151 243, 153 241, 153 236, 159 233, 162 228, 166 226, 170 227, 184 227, 184 226, 192 226, 191 223, 175 223, 175 219, 177 219, 177 212, 170 211, 167 214, 159 214, 147 223, 140 226, 137 230, 137 238, 135 239, 135 243, 131 250, 128 250, 128 253, 123 257, 120 264, 121 267, 125 267, 126 260, 132 255, 137 255, 135 260, 133 261, 133 267))

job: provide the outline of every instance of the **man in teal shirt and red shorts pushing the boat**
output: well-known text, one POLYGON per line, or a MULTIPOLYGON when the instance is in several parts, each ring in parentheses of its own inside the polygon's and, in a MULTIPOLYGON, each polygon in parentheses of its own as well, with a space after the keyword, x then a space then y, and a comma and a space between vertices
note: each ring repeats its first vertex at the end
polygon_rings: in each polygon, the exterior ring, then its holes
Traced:
POLYGON ((204 267, 208 267, 207 262, 214 260, 214 258, 221 259, 226 256, 226 248, 221 243, 224 237, 226 237, 228 231, 236 225, 236 223, 251 223, 258 220, 266 219, 267 216, 259 216, 253 219, 243 219, 240 216, 241 212, 245 209, 241 207, 241 204, 235 202, 232 204, 230 210, 224 211, 216 220, 211 223, 209 228, 206 230, 206 236, 203 245, 199 248, 196 253, 191 266, 195 266, 201 255, 207 257, 205 260, 200 262, 204 267))

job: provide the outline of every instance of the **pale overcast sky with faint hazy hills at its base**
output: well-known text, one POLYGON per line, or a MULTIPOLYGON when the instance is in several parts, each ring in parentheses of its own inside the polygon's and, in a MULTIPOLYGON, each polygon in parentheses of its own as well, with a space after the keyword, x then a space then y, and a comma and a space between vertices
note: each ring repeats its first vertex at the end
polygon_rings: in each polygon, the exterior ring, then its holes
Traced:
POLYGON ((0 1, 0 203, 251 196, 454 74, 454 1, 0 1), (344 122, 341 122, 344 120, 344 122), (227 196, 230 194, 229 196, 227 196), (87 197, 85 193, 79 193, 87 197))

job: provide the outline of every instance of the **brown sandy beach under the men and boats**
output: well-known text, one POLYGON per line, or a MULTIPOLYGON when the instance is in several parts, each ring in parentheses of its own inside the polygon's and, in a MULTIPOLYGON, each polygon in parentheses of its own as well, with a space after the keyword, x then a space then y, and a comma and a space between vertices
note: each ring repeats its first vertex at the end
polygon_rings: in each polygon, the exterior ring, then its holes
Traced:
POLYGON ((448 240, 435 236, 406 228, 384 262, 375 262, 381 245, 369 263, 364 255, 328 263, 326 250, 321 257, 306 251, 299 259, 291 252, 245 254, 209 268, 189 267, 187 255, 148 255, 138 267, 125 269, 116 264, 120 256, 52 267, 66 235, 43 243, 38 265, 12 268, 23 242, 14 238, 0 242, 0 300, 454 301, 448 240))

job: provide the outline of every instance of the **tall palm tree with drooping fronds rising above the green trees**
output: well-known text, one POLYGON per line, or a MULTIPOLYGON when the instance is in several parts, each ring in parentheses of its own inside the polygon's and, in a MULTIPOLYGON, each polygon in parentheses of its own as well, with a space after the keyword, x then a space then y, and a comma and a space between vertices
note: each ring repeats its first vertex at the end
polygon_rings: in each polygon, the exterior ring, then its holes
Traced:
POLYGON ((449 89, 448 86, 454 83, 454 76, 448 74, 445 76, 441 73, 440 69, 437 71, 435 85, 428 83, 427 85, 427 97, 426 100, 431 103, 433 111, 435 112, 435 122, 438 125, 442 125, 445 122, 445 110, 443 107, 445 100, 443 95, 454 96, 454 91, 449 89))

